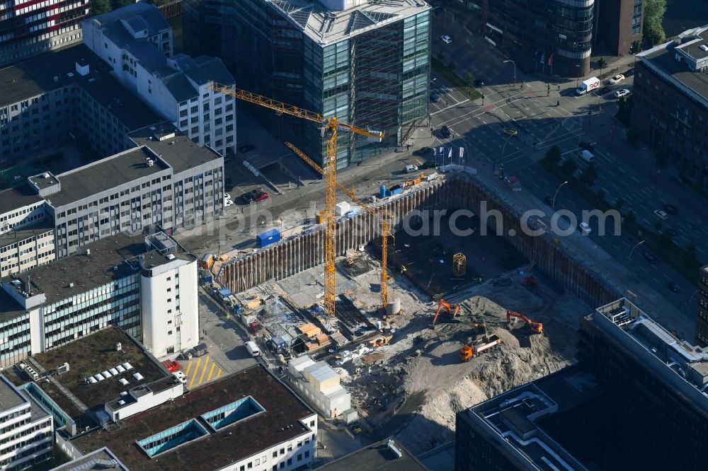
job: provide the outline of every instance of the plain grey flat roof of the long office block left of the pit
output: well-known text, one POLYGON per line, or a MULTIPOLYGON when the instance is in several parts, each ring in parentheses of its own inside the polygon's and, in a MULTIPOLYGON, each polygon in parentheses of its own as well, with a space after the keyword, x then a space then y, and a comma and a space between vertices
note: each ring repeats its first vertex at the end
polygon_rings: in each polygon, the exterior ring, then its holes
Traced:
POLYGON ((62 190, 45 199, 54 207, 64 206, 168 168, 149 149, 137 147, 57 175, 62 190), (147 165, 148 158, 154 165, 147 165))

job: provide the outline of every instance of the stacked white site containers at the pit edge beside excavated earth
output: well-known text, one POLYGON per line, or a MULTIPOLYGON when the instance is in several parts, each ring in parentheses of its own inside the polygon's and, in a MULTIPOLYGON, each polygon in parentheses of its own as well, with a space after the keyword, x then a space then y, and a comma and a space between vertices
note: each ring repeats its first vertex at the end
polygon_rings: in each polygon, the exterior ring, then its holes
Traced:
MULTIPOLYGON (((350 393, 342 387, 339 374, 326 361, 315 362, 309 355, 298 356, 288 362, 287 372, 297 392, 323 417, 333 419, 351 409, 350 393)), ((355 412, 353 416, 358 418, 355 412)))

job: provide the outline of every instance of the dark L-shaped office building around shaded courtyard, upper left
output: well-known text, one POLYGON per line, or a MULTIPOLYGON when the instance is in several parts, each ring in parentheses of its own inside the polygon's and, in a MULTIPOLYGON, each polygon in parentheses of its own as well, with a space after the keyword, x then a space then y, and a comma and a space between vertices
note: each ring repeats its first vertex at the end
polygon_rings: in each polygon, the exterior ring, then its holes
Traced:
POLYGON ((84 45, 0 69, 0 162, 62 144, 88 146, 101 156, 129 149, 127 132, 162 118, 110 71, 84 45))

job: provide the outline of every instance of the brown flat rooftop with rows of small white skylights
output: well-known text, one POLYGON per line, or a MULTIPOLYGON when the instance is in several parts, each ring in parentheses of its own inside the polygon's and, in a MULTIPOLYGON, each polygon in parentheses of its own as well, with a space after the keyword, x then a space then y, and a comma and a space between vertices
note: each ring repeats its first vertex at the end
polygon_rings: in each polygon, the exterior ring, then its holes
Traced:
MULTIPOLYGON (((154 357, 144 351, 120 328, 113 326, 81 337, 62 347, 33 355, 33 359, 47 371, 55 370, 59 365, 67 362, 69 371, 55 376, 55 379, 89 409, 101 407, 107 402, 118 399, 122 391, 139 385, 150 385, 165 378, 171 379, 171 375, 159 366, 159 362, 154 357), (115 344, 118 342, 121 344, 121 351, 115 349, 115 344), (86 378, 89 376, 108 371, 124 363, 129 363, 133 368, 98 383, 86 383, 86 378), (144 379, 135 380, 132 376, 134 373, 140 373, 144 379), (125 378, 129 383, 121 385, 118 383, 121 378, 125 378)), ((50 391, 45 389, 44 384, 40 384, 42 390, 60 407, 67 400, 71 401, 58 388, 50 391)))

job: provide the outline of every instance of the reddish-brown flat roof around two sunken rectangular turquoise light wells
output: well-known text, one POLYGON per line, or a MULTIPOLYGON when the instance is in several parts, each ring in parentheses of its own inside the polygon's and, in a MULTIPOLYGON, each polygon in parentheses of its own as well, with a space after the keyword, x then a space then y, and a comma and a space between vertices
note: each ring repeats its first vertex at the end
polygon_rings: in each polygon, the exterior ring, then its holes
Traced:
POLYGON ((72 440, 72 443, 84 453, 110 443, 111 450, 130 470, 217 470, 307 433, 309 429, 299 420, 312 414, 311 409, 265 368, 256 365, 189 392, 181 399, 121 420, 118 429, 99 429, 72 440), (137 446, 136 441, 246 396, 253 397, 265 412, 220 431, 212 431, 198 441, 155 458, 148 458, 137 446), (292 428, 282 430, 289 425, 292 428))

